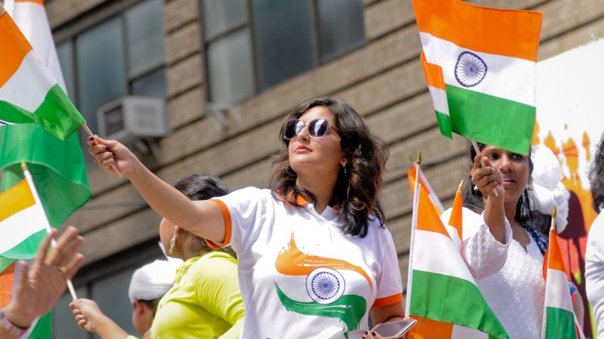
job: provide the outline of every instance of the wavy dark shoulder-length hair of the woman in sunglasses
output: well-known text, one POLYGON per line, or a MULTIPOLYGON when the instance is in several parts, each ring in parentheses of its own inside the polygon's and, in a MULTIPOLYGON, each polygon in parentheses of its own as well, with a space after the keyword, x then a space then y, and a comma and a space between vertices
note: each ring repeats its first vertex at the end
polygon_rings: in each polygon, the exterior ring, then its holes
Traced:
MULTIPOLYGON (((340 230, 344 234, 364 238, 371 216, 376 217, 380 225, 384 225, 385 216, 378 195, 382 187, 382 172, 389 156, 388 145, 373 135, 365 119, 340 99, 321 97, 306 101, 289 112, 285 122, 300 118, 316 106, 323 106, 333 112, 333 128, 340 135, 340 147, 345 157, 350 160, 345 165, 346 172, 342 169, 338 174, 330 206, 338 205, 340 230)), ((310 192, 296 186, 297 174, 291 170, 288 162, 289 140, 283 138, 285 122, 279 133, 284 147, 274 156, 270 185, 275 197, 279 194, 289 204, 299 207, 296 199, 301 194, 308 195, 313 203, 316 199, 310 192)))

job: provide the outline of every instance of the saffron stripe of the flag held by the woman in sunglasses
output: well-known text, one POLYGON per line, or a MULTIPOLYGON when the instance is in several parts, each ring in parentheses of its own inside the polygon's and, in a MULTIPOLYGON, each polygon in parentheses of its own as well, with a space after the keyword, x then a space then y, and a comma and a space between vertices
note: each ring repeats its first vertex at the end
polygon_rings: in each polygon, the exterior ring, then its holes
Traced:
MULTIPOLYGON (((1 8, 1 7, 0 7, 1 8)), ((21 34, 11 16, 4 9, 0 14, 0 87, 18 70, 23 58, 32 50, 27 39, 21 34)))

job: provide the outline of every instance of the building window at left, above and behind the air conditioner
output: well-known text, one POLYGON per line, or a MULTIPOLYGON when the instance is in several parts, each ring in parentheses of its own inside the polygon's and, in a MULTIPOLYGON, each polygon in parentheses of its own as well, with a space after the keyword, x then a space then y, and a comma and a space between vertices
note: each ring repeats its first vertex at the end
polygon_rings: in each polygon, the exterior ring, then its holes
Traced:
POLYGON ((144 0, 57 46, 70 98, 93 133, 104 104, 125 95, 166 96, 163 37, 163 1, 144 0))

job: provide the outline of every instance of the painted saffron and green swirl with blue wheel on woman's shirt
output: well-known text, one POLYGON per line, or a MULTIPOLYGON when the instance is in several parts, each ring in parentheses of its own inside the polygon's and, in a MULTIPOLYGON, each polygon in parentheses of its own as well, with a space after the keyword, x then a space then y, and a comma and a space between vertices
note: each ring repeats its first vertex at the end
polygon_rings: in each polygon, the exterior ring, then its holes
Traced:
POLYGON ((306 291, 313 301, 298 301, 288 296, 275 282, 281 304, 287 311, 306 316, 335 318, 344 323, 343 334, 357 330, 367 311, 367 300, 355 294, 344 294, 345 281, 340 270, 357 272, 373 288, 367 272, 357 265, 340 259, 309 255, 298 249, 293 233, 275 262, 277 272, 289 276, 306 276, 306 291))

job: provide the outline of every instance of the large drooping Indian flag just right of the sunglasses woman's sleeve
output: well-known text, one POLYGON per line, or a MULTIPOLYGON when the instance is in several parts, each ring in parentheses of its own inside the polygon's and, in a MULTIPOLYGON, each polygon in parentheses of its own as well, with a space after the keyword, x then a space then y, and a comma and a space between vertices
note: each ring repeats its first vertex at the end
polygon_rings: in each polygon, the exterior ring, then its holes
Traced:
POLYGON ((419 182, 413 184, 406 312, 418 325, 407 338, 509 338, 426 191, 419 182))

